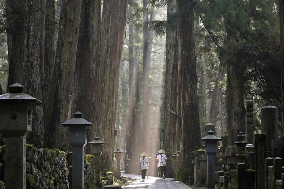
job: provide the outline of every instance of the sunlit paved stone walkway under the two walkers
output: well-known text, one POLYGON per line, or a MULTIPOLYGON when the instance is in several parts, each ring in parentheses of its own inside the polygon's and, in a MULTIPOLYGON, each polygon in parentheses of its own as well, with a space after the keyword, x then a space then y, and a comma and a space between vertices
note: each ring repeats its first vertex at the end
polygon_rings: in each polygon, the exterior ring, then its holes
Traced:
POLYGON ((191 189, 188 185, 182 182, 175 181, 174 179, 166 178, 160 180, 158 177, 148 177, 144 181, 141 180, 141 175, 121 173, 124 178, 135 179, 135 181, 127 182, 124 185, 125 189, 191 189), (128 184, 129 183, 129 184, 128 184))

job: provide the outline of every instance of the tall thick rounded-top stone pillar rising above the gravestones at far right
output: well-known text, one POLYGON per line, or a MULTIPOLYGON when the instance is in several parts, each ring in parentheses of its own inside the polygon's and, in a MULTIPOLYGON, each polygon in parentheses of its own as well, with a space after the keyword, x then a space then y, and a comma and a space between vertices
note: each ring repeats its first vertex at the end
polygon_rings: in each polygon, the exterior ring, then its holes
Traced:
POLYGON ((278 108, 266 106, 261 111, 261 133, 266 133, 266 150, 267 157, 272 156, 271 141, 278 140, 278 108))

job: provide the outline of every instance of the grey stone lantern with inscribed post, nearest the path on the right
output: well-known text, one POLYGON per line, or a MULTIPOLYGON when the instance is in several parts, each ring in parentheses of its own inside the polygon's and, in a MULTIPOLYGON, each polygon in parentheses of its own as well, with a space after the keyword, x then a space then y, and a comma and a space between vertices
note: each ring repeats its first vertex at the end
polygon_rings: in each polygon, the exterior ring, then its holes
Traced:
POLYGON ((207 189, 215 188, 215 157, 217 152, 217 141, 222 139, 216 137, 213 131, 208 131, 208 135, 201 139, 205 141, 205 153, 207 154, 207 189))

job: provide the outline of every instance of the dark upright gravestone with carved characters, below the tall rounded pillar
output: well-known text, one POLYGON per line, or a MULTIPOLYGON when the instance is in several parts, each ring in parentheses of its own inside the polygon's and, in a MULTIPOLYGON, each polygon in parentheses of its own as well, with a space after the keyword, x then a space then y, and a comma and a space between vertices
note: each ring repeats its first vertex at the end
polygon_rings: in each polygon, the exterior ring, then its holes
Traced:
POLYGON ((255 186, 265 189, 266 134, 254 135, 255 147, 255 186))

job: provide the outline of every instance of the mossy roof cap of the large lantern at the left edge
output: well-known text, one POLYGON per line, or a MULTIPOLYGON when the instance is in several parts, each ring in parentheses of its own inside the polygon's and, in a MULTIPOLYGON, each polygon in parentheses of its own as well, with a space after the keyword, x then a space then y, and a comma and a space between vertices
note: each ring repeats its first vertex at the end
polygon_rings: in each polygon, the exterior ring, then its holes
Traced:
POLYGON ((0 95, 1 104, 27 103, 33 106, 42 105, 42 102, 30 95, 25 94, 26 88, 16 83, 9 86, 9 93, 0 95))

